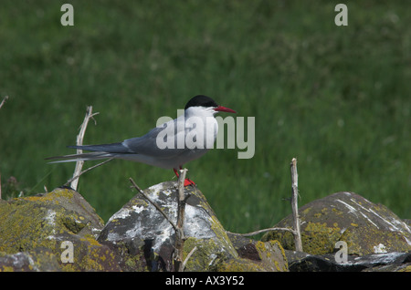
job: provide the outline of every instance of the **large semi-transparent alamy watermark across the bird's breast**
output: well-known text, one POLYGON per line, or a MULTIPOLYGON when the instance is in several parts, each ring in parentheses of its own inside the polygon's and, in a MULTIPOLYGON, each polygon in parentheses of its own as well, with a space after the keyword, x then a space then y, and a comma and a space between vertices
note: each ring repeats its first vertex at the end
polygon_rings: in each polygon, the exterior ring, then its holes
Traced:
POLYGON ((243 150, 237 152, 238 159, 250 159, 254 156, 256 150, 254 117, 247 117, 246 129, 245 117, 216 116, 216 118, 202 119, 193 116, 185 119, 184 109, 177 109, 177 115, 179 114, 182 114, 181 122, 174 122, 173 118, 166 116, 157 119, 157 128, 163 128, 156 138, 159 149, 214 149, 216 143, 216 149, 235 149, 237 145, 239 150, 243 150), (225 142, 226 129, 227 142, 225 142), (184 134, 175 134, 184 131, 184 134))

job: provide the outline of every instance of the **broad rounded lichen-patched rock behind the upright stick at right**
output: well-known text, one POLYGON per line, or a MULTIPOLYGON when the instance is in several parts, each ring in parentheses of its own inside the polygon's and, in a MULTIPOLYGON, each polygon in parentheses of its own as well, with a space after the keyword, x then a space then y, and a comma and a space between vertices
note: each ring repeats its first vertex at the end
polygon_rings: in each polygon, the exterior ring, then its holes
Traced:
MULTIPOLYGON (((382 204, 374 204, 353 192, 337 192, 299 209, 304 252, 331 254, 344 241, 348 254, 365 255, 411 251, 411 229, 382 204)), ((276 227, 291 227, 289 215, 276 227)), ((270 232, 262 241, 279 240, 294 250, 289 232, 270 232)))

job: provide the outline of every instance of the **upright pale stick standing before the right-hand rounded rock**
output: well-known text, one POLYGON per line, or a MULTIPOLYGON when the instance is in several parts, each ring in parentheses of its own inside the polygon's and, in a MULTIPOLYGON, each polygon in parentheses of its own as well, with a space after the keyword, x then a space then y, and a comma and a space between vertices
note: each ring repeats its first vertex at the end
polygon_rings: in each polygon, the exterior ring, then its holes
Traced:
POLYGON ((291 210, 294 223, 294 243, 295 250, 302 252, 302 242, 301 242, 301 233, 300 233, 300 216, 299 216, 299 174, 297 172, 297 159, 293 158, 290 162, 291 170, 291 189, 292 189, 292 198, 291 198, 291 210))

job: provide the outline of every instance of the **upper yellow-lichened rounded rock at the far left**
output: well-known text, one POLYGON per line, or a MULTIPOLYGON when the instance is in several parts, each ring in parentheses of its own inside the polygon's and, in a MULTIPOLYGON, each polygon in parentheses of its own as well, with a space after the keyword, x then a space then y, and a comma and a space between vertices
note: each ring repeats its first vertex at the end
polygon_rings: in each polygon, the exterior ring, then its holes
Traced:
POLYGON ((0 201, 0 251, 18 252, 52 243, 58 233, 97 236, 103 221, 79 192, 53 192, 0 201))

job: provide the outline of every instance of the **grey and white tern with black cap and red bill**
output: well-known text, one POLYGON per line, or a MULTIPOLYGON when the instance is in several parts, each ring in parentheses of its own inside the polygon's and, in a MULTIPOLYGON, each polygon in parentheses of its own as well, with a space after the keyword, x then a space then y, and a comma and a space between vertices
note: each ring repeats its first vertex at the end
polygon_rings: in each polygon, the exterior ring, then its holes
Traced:
MULTIPOLYGON (((214 116, 218 112, 237 113, 217 105, 213 98, 197 95, 186 103, 183 115, 163 122, 142 137, 109 144, 68 146, 90 152, 48 157, 46 160, 58 159, 49 163, 102 159, 137 161, 173 169, 178 177, 178 169, 181 170, 185 163, 202 157, 212 148, 218 131, 214 116)), ((195 182, 185 179, 184 187, 189 185, 195 185, 195 182)))

